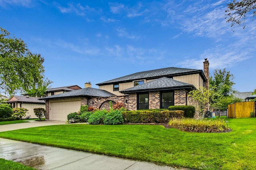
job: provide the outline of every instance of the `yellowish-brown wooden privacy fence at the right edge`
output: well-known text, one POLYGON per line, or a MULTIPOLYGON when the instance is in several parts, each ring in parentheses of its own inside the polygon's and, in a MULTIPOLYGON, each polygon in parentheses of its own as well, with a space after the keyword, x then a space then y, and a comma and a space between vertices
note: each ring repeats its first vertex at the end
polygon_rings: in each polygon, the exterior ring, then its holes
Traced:
POLYGON ((250 117, 252 111, 255 116, 255 102, 236 102, 228 105, 229 118, 250 117))

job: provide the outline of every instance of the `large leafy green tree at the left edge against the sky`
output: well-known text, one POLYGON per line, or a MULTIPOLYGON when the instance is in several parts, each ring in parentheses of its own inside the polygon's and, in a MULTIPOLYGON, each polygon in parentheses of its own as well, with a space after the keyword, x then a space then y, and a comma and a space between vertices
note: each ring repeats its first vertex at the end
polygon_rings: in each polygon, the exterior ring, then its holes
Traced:
POLYGON ((41 86, 44 58, 32 54, 24 41, 11 37, 6 29, 0 29, 0 90, 12 95, 41 86))

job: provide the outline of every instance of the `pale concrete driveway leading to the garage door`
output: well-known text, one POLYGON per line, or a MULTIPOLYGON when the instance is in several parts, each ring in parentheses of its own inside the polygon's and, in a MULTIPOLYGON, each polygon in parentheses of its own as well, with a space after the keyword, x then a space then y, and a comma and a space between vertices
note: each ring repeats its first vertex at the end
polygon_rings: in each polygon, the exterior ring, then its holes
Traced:
POLYGON ((15 123, 10 125, 0 125, 0 132, 26 129, 29 127, 64 125, 65 121, 28 121, 28 123, 15 123))

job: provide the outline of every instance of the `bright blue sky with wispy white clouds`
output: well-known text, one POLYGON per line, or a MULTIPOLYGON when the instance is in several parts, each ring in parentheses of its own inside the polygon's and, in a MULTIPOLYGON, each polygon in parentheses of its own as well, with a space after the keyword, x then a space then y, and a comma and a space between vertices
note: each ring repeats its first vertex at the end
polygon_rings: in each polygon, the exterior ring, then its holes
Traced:
POLYGON ((166 67, 226 68, 256 88, 256 21, 226 23, 232 0, 0 0, 0 27, 41 54, 52 88, 166 67))

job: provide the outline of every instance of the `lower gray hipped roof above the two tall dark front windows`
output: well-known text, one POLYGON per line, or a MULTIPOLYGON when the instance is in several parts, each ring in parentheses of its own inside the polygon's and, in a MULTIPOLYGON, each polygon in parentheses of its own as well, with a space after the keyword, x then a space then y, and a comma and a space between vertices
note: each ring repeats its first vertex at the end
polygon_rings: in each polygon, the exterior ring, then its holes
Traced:
POLYGON ((128 88, 126 90, 120 91, 123 94, 135 93, 135 92, 148 92, 148 91, 162 91, 162 90, 174 90, 181 88, 190 88, 195 89, 192 84, 180 82, 177 80, 173 80, 171 78, 158 78, 151 82, 147 82, 138 86, 134 86, 132 88, 128 88))

